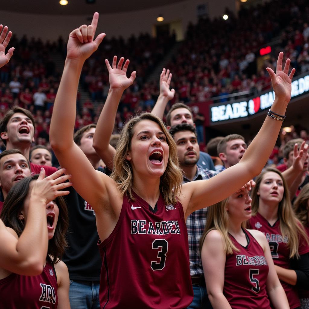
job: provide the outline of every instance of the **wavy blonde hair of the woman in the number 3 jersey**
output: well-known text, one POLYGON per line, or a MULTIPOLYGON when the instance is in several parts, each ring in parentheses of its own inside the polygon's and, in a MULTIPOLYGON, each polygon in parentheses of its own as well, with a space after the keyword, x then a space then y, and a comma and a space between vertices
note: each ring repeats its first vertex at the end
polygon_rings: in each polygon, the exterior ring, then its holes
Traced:
POLYGON ((182 172, 178 164, 176 143, 167 131, 163 121, 153 114, 146 112, 142 113, 131 118, 125 124, 117 144, 111 177, 118 183, 120 193, 134 201, 132 167, 130 161, 126 160, 126 156, 131 148, 134 126, 142 120, 150 120, 157 123, 166 136, 167 145, 169 146, 169 155, 166 170, 160 177, 160 191, 167 205, 175 205, 183 182, 182 172))

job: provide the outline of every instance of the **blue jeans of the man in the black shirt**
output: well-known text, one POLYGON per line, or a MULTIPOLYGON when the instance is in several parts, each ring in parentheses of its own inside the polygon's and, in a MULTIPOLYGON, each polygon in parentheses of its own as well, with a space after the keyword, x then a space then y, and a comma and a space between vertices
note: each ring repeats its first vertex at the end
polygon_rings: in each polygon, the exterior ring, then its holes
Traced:
POLYGON ((72 309, 100 309, 99 281, 70 280, 70 305, 72 309))

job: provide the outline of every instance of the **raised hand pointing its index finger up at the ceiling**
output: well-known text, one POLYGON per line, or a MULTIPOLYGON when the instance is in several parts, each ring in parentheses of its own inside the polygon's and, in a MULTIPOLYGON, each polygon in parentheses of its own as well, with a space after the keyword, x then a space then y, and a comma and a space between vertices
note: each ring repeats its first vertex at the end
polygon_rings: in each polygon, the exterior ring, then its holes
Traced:
POLYGON ((90 25, 82 25, 70 33, 67 44, 67 58, 85 61, 98 49, 105 36, 105 33, 100 33, 93 40, 98 20, 99 13, 95 13, 90 25))

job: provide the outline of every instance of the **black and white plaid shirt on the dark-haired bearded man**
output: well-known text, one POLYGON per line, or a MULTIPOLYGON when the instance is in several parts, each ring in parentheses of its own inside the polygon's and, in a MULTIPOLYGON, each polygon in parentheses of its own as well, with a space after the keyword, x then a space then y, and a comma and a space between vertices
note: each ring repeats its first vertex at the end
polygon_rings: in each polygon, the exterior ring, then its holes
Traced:
MULTIPOLYGON (((218 172, 211 171, 208 169, 201 169, 197 166, 194 180, 205 180, 209 179, 218 172)), ((184 176, 184 184, 190 182, 188 178, 184 176)), ((188 229, 188 240, 189 240, 189 259, 190 259, 190 273, 191 276, 203 275, 203 268, 201 262, 200 253, 200 239, 203 235, 204 228, 206 225, 207 207, 194 211, 187 218, 187 229, 188 229)))

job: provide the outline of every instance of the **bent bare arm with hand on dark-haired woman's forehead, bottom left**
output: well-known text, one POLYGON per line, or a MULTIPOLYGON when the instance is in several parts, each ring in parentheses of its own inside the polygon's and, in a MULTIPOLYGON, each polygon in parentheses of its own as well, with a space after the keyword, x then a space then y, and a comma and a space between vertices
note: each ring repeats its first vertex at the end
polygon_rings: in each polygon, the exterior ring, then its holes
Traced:
POLYGON ((71 185, 63 182, 70 178, 70 175, 61 176, 64 171, 61 169, 44 178, 45 171, 41 168, 30 193, 27 221, 19 239, 16 232, 6 228, 0 220, 1 268, 21 275, 38 275, 43 271, 48 249, 46 204, 69 193, 61 191, 71 185))

